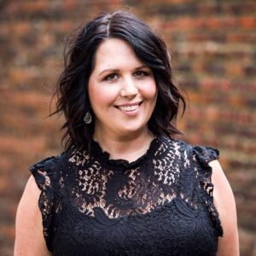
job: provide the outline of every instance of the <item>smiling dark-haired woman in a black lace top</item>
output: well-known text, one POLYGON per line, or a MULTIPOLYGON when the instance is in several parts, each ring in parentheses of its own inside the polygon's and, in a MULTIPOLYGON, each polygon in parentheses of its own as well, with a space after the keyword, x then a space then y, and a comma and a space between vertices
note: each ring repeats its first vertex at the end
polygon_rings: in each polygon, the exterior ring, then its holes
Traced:
POLYGON ((121 11, 91 20, 58 96, 66 150, 30 168, 15 255, 238 255, 218 150, 174 139, 184 100, 148 26, 121 11))

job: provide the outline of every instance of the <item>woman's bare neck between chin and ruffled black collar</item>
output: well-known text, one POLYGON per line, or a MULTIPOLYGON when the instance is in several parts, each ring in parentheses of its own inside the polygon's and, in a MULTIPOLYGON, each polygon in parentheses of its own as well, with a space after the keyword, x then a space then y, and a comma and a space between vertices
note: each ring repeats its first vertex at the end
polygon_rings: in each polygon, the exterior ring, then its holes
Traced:
POLYGON ((101 145, 103 151, 110 154, 110 159, 123 159, 129 162, 145 154, 154 139, 154 134, 147 129, 129 136, 106 136, 95 132, 93 139, 101 145))

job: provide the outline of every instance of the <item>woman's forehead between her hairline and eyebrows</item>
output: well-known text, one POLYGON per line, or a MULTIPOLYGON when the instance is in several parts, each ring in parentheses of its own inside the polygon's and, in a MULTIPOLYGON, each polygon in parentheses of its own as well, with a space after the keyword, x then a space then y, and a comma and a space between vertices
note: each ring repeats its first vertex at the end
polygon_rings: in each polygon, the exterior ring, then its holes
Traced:
POLYGON ((95 69, 142 65, 131 45, 119 38, 100 44, 95 55, 95 69))

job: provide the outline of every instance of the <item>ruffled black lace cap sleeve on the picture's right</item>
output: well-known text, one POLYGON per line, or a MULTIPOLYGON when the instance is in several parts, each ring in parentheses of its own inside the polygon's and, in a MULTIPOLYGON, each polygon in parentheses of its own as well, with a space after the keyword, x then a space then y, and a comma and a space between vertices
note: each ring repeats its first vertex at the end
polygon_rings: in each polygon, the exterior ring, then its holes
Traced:
POLYGON ((219 151, 215 148, 195 146, 193 148, 195 160, 195 173, 198 187, 201 189, 203 201, 211 214, 212 222, 218 232, 218 236, 223 236, 223 228, 218 218, 218 211, 213 204, 212 167, 209 162, 218 160, 219 151))

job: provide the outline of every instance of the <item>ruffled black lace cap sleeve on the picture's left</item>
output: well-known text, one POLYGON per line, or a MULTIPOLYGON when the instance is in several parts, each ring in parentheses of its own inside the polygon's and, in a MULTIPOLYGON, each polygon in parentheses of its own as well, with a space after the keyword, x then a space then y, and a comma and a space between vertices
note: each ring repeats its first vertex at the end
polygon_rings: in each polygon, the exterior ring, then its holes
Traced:
POLYGON ((53 228, 51 225, 55 204, 55 157, 49 157, 30 166, 29 170, 41 190, 38 207, 43 218, 44 238, 49 251, 52 251, 53 228))

